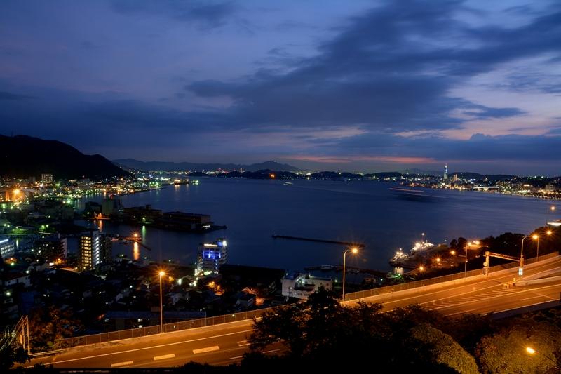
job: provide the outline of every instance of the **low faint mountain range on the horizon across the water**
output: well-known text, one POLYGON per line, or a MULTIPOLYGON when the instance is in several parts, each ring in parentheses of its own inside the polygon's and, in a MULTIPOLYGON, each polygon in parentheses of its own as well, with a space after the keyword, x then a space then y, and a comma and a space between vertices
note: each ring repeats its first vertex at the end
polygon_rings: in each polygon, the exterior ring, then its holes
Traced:
POLYGON ((193 162, 165 162, 165 161, 138 161, 135 159, 113 160, 114 163, 127 168, 142 171, 215 171, 218 169, 234 171, 243 169, 244 171, 299 171, 299 168, 286 163, 276 161, 265 161, 262 163, 252 163, 251 165, 241 165, 238 163, 193 163, 193 162))

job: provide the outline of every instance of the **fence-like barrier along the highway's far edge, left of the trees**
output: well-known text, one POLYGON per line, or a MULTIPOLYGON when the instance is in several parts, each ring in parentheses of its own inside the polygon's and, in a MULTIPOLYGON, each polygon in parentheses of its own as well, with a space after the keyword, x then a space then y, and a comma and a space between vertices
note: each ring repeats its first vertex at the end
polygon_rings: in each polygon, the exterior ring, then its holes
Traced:
POLYGON ((255 309, 248 312, 234 314, 224 314, 222 316, 206 317, 201 319, 190 319, 173 323, 164 323, 163 329, 160 326, 147 326, 141 328, 131 328, 130 330, 110 331, 95 335, 75 336, 72 338, 59 339, 55 341, 55 347, 75 347, 76 345, 88 345, 94 343, 111 342, 114 340, 140 338, 147 335, 157 335, 158 333, 171 333, 173 331, 188 330, 204 326, 218 325, 221 323, 243 321, 254 319, 261 316, 264 312, 269 312, 273 308, 255 309))

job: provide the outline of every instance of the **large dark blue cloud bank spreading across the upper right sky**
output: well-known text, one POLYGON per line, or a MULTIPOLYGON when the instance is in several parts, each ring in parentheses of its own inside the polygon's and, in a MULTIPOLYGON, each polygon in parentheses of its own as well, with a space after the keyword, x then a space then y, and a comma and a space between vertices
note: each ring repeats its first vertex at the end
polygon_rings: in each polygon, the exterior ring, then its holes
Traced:
POLYGON ((473 27, 458 20, 468 10, 461 1, 383 4, 340 27, 319 46, 319 55, 291 60, 288 72, 263 69, 239 81, 195 81, 185 88, 201 98, 230 98, 231 107, 220 111, 235 126, 360 123, 372 131, 445 130, 472 119, 525 114, 452 97, 450 91, 503 62, 559 53, 561 31, 539 27, 559 18, 542 16, 518 29, 473 27), (541 39, 537 46, 526 33, 541 39))

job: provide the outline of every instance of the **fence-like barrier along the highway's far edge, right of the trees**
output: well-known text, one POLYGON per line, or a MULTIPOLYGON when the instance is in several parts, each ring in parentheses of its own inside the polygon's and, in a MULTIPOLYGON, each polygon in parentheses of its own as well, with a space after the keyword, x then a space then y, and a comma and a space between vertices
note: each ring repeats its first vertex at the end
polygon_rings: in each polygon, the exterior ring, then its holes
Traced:
MULTIPOLYGON (((547 255, 540 256, 540 260, 547 260, 548 258, 554 258, 559 255, 558 252, 548 253, 547 255)), ((532 264, 536 262, 536 258, 529 258, 525 260, 525 265, 532 264)), ((496 265, 493 267, 489 267, 489 274, 492 272, 498 272, 499 270, 504 269, 512 269, 513 267, 518 267, 520 265, 518 262, 509 262, 508 264, 503 265, 496 265)), ((437 276, 435 278, 428 278, 428 279, 421 279, 419 281, 412 281, 407 283, 396 284, 394 286, 386 286, 386 287, 379 287, 379 288, 372 288, 371 290, 363 290, 353 293, 346 293, 345 294, 345 301, 348 300, 356 300, 361 298, 370 298, 371 296, 383 295, 384 293, 392 293, 401 290, 409 290, 411 288, 423 287, 423 286, 430 286, 431 284, 442 283, 446 281, 455 281, 457 279, 462 279, 464 276, 475 276, 475 275, 482 275, 483 269, 475 269, 470 270, 464 275, 463 272, 461 273, 454 273, 445 276, 437 276)))

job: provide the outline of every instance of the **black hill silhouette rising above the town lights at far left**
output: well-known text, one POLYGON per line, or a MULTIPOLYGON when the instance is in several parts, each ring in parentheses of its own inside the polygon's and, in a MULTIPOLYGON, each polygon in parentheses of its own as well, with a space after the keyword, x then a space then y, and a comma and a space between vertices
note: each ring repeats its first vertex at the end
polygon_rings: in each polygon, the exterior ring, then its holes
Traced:
POLYGON ((0 160, 0 175, 15 178, 39 178, 42 173, 64 179, 130 176, 99 154, 88 156, 63 142, 27 135, 0 135, 0 160))

